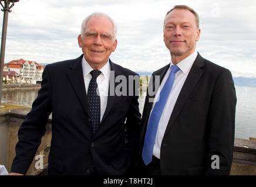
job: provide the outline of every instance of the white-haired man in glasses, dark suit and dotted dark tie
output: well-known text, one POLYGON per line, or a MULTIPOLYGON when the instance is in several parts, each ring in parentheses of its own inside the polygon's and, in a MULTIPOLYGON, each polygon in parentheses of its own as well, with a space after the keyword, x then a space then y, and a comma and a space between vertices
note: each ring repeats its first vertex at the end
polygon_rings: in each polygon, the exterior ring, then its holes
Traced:
MULTIPOLYGON (((11 174, 28 170, 51 112, 49 175, 130 171, 140 136, 138 95, 117 95, 114 78, 139 76, 109 59, 117 46, 116 32, 109 16, 93 13, 83 20, 78 36, 82 56, 46 65, 38 98, 18 132, 11 174)), ((135 93, 135 87, 123 89, 135 93)))

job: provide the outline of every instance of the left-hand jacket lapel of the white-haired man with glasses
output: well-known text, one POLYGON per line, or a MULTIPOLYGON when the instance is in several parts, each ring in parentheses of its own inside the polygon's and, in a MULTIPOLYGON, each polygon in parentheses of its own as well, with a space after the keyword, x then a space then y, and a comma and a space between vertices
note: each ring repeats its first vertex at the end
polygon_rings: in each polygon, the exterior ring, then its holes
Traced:
POLYGON ((83 55, 79 58, 76 58, 76 60, 68 67, 68 77, 76 95, 78 96, 79 101, 82 103, 83 108, 85 108, 87 115, 90 116, 89 108, 86 105, 86 91, 85 81, 83 79, 82 58, 83 55))

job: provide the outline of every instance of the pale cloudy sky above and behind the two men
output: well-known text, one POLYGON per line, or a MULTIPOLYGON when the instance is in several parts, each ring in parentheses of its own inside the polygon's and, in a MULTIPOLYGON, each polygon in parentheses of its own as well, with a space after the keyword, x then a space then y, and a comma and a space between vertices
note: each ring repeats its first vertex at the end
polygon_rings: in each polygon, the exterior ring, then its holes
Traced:
POLYGON ((201 56, 228 68, 234 77, 256 77, 255 0, 20 0, 9 13, 5 63, 77 58, 82 54, 77 41, 82 20, 104 12, 117 24, 112 61, 133 71, 157 70, 170 62, 163 20, 178 4, 190 6, 200 17, 201 56))

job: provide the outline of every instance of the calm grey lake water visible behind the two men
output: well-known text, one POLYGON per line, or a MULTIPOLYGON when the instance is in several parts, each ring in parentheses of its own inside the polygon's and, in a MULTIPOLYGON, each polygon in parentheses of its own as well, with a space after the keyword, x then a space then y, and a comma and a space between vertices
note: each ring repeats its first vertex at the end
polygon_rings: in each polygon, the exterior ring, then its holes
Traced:
MULTIPOLYGON (((235 86, 237 92, 237 108, 235 115, 235 137, 256 137, 256 87, 235 86)), ((38 95, 38 89, 26 91, 2 91, 2 103, 11 105, 32 106, 38 95)), ((145 93, 139 97, 142 113, 145 93)))

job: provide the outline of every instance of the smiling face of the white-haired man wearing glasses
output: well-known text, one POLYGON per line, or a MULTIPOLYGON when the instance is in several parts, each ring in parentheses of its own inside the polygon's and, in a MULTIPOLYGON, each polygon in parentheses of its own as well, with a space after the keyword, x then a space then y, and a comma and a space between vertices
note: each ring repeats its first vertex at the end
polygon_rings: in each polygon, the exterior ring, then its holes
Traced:
POLYGON ((90 18, 83 33, 97 33, 97 36, 78 36, 79 47, 82 48, 85 60, 94 70, 100 70, 106 63, 110 54, 116 50, 117 40, 103 39, 100 35, 108 34, 114 36, 114 26, 109 19, 103 16, 90 18))

